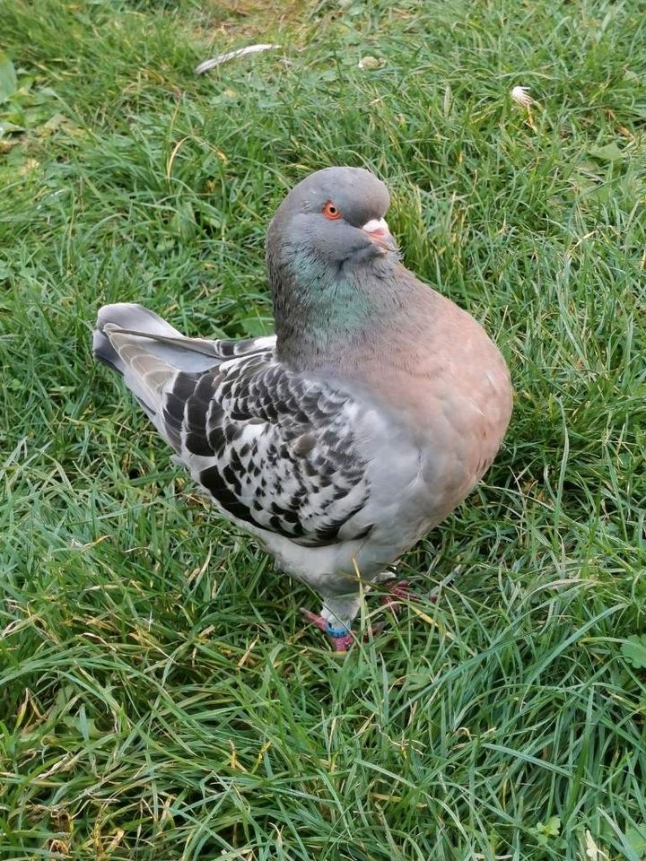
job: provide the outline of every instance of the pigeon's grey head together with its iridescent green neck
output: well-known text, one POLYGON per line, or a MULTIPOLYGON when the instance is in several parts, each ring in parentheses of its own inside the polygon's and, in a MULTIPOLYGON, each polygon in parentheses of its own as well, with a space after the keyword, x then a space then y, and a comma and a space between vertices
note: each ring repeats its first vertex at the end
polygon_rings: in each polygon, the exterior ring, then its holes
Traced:
POLYGON ((406 270, 384 216, 386 186, 361 168, 327 168, 287 195, 269 225, 266 264, 278 355, 336 361, 401 307, 406 270))

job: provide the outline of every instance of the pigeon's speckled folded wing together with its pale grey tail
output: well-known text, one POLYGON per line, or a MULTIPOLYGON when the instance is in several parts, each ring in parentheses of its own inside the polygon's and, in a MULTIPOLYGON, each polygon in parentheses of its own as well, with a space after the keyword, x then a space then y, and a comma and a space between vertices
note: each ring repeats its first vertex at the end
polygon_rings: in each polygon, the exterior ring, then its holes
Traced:
POLYGON ((95 352, 226 516, 307 546, 369 534, 354 519, 370 486, 352 396, 285 368, 273 337, 189 339, 152 312, 123 308, 101 310, 95 352))

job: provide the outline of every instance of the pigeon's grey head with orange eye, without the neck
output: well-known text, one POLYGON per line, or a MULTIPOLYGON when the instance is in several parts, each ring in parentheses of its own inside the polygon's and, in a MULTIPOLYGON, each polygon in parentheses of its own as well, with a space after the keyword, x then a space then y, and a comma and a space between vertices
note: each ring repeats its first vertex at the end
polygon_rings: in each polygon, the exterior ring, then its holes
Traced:
POLYGON ((362 263, 397 253, 384 216, 388 188, 370 170, 326 168, 303 179, 267 231, 267 262, 362 263))

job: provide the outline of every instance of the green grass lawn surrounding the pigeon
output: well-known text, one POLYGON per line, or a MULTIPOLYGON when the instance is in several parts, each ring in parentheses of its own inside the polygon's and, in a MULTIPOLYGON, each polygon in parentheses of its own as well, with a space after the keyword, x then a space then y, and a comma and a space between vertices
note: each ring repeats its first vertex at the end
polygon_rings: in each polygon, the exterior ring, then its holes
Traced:
POLYGON ((640 861, 639 4, 0 17, 0 858, 640 861), (193 74, 249 40, 283 48, 193 74), (115 300, 267 331, 266 222, 334 163, 387 179, 407 265, 516 389, 486 483, 403 563, 421 597, 341 662, 89 351, 115 300))

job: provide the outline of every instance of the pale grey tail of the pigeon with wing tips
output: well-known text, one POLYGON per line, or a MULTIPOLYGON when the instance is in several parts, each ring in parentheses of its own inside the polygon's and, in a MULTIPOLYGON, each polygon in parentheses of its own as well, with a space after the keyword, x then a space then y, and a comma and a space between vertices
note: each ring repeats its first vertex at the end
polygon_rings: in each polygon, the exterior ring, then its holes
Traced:
POLYGON ((164 394, 180 371, 200 373, 218 365, 216 341, 187 338, 141 305, 105 305, 92 333, 92 352, 118 371, 157 424, 164 394))

